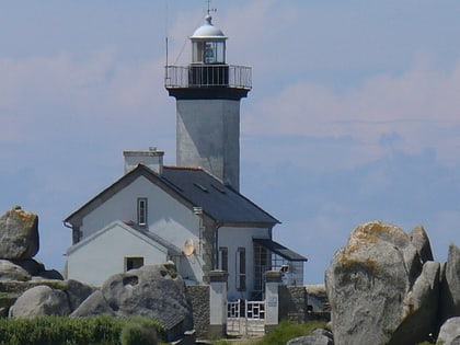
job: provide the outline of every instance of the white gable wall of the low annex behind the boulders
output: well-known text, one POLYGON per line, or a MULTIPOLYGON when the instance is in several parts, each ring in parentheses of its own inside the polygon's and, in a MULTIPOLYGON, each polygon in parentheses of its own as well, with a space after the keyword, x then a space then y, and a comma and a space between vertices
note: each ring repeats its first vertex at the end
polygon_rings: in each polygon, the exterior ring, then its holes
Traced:
POLYGON ((145 265, 168 261, 168 250, 120 222, 102 229, 68 250, 67 276, 101 286, 111 275, 125 269, 125 257, 143 257, 145 265))

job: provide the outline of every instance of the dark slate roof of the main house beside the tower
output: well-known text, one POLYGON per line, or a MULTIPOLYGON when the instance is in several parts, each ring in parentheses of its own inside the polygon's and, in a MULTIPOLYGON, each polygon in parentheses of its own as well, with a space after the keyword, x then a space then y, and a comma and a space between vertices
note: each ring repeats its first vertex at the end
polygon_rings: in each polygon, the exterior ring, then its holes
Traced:
POLYGON ((143 164, 139 164, 102 191, 68 216, 65 222, 73 223, 73 220, 84 217, 140 175, 169 192, 170 195, 181 199, 184 204, 189 204, 192 207, 202 207, 203 212, 216 221, 272 226, 279 223, 268 212, 242 194, 223 185, 200 168, 163 166, 163 173, 159 175, 143 164))

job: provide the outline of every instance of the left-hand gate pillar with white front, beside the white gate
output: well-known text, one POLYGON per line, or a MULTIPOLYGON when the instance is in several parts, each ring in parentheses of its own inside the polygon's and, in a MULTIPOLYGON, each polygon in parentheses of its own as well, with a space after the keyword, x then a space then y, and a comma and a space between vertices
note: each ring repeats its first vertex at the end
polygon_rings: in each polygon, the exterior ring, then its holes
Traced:
POLYGON ((226 271, 209 272, 209 333, 225 335, 227 326, 227 279, 226 271))

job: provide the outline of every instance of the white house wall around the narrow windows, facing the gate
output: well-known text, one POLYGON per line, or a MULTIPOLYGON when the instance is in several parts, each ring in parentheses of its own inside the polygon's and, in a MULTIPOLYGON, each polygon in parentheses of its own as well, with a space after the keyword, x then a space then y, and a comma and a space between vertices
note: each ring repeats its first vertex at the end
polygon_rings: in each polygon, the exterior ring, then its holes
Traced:
POLYGON ((254 244, 252 239, 268 239, 268 228, 219 228, 218 243, 220 246, 227 246, 229 253, 229 278, 228 278, 228 298, 235 300, 239 298, 250 299, 254 289, 254 244), (244 246, 246 252, 246 291, 237 290, 237 252, 238 248, 244 246))

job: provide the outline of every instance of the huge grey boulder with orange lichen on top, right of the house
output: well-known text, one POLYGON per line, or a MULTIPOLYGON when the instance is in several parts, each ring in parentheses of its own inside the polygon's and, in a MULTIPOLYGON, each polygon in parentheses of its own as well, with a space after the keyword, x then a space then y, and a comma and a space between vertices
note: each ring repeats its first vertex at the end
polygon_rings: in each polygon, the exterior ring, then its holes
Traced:
MULTIPOLYGON (((417 231, 418 232, 418 231, 417 231)), ((356 227, 325 274, 334 343, 416 344, 436 333, 439 264, 400 228, 356 227)))

